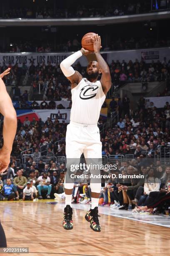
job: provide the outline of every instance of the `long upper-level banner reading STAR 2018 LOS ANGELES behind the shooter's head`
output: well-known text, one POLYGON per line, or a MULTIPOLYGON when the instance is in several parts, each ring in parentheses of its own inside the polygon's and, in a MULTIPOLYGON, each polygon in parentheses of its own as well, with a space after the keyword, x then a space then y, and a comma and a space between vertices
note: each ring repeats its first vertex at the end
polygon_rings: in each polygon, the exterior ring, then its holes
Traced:
MULTIPOLYGON (((50 62, 51 65, 55 66, 60 64, 61 61, 67 58, 73 52, 63 52, 63 53, 1 53, 0 54, 0 65, 2 66, 5 63, 7 66, 14 66, 18 64, 18 67, 26 65, 30 67, 33 63, 35 66, 39 63, 42 65, 44 62, 46 65, 50 62)), ((170 59, 170 48, 157 48, 157 49, 140 49, 140 50, 127 50, 127 51, 103 51, 101 52, 103 58, 107 63, 111 63, 112 60, 122 61, 123 59, 128 62, 130 59, 135 61, 138 59, 140 61, 143 59, 145 62, 150 63, 154 61, 163 61, 163 58, 166 57, 167 60, 170 59)), ((95 57, 94 57, 95 60, 95 57)), ((80 64, 85 67, 87 66, 87 59, 85 56, 82 56, 77 61, 80 61, 80 64)), ((75 63, 77 63, 77 61, 75 63)))

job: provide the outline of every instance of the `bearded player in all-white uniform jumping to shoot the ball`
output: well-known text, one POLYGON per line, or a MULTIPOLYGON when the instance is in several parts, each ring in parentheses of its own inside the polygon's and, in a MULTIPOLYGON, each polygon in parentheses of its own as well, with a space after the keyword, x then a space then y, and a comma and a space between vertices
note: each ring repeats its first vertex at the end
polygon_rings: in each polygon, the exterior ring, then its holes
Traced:
MULTIPOLYGON (((107 92, 111 87, 110 70, 100 54, 101 39, 98 34, 92 38, 94 53, 97 61, 90 61, 87 66, 87 77, 75 71, 71 65, 82 55, 90 54, 90 51, 81 49, 67 57, 60 64, 65 77, 71 82, 72 108, 70 124, 67 125, 66 133, 66 157, 67 159, 80 159, 83 153, 85 159, 102 159, 102 143, 100 142, 97 122, 100 110, 107 92), (102 73, 100 81, 98 75, 102 73)), ((65 180, 65 209, 63 216, 63 228, 72 229, 72 189, 73 183, 65 180)), ((98 201, 100 196, 101 182, 90 181, 91 209, 85 215, 90 222, 92 230, 100 232, 101 226, 98 220, 98 201)))

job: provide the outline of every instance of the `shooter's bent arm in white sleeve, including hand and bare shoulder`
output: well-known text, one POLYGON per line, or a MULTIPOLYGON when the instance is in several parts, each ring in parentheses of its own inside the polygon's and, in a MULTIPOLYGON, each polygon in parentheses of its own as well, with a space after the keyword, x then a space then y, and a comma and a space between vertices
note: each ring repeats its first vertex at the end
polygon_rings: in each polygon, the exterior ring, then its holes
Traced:
POLYGON ((64 59, 60 63, 60 68, 63 74, 65 75, 65 77, 67 77, 67 79, 70 80, 72 84, 71 89, 76 87, 77 84, 79 84, 82 79, 82 75, 78 71, 75 71, 73 67, 71 67, 71 65, 74 64, 75 61, 79 59, 82 55, 87 55, 90 53, 91 53, 90 51, 87 51, 82 48, 80 51, 77 51, 74 54, 68 56, 66 59, 64 59))

